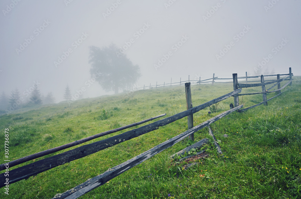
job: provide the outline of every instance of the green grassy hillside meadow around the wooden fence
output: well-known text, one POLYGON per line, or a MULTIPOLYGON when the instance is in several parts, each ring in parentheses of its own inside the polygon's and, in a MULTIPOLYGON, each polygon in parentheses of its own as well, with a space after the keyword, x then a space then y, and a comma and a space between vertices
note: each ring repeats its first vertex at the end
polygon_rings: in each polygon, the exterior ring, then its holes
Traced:
MULTIPOLYGON (((300 77, 295 76, 290 89, 268 101, 268 106, 235 112, 211 124, 214 135, 221 141, 219 144, 224 158, 217 155, 212 142, 209 142, 205 146, 209 157, 185 170, 183 163, 169 159, 170 155, 188 145, 185 139, 81 198, 163 199, 168 198, 168 194, 176 199, 301 198, 300 83, 300 77), (223 137, 224 134, 228 137, 223 137)), ((192 85, 193 106, 232 90, 232 84, 192 85)), ((260 91, 260 87, 243 88, 243 93, 260 91)), ((268 94, 267 98, 272 96, 275 93, 268 94)), ((239 100, 246 108, 261 102, 262 95, 240 96, 239 100)), ((230 103, 233 103, 233 97, 220 102, 215 107, 216 112, 210 115, 208 111, 211 107, 194 114, 194 125, 228 110, 230 103)), ((9 158, 14 160, 163 113, 167 114, 164 117, 168 117, 185 109, 184 86, 82 99, 70 106, 67 102, 61 102, 34 109, 28 107, 0 116, 0 142, 4 145, 4 129, 9 128, 9 158)), ((137 127, 129 130, 134 128, 137 127)), ((1 188, 0 198, 54 197, 185 130, 187 118, 13 183, 9 186, 9 195, 4 194, 4 188, 1 188)), ((123 132, 126 130, 84 144, 123 132)), ((207 128, 195 133, 194 137, 195 141, 210 138, 207 128)), ((70 148, 63 151, 67 150, 70 148)), ((4 147, 1 147, 0 153, 4 155, 4 147)), ((58 153, 61 152, 46 157, 58 153)))

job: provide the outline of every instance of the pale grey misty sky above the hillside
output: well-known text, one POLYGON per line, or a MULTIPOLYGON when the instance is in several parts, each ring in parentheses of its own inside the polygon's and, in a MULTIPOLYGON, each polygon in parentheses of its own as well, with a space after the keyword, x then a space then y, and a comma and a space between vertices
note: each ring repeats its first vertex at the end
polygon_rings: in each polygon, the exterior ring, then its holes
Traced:
POLYGON ((297 0, 2 0, 0 8, 0 92, 7 95, 17 87, 26 97, 34 81, 56 102, 67 84, 72 95, 85 87, 84 98, 112 94, 89 83, 88 63, 89 46, 111 43, 128 44, 124 54, 141 69, 138 87, 289 67, 301 75, 297 0), (158 60, 165 63, 156 67, 158 60))

